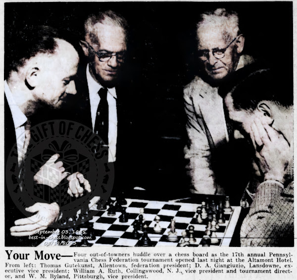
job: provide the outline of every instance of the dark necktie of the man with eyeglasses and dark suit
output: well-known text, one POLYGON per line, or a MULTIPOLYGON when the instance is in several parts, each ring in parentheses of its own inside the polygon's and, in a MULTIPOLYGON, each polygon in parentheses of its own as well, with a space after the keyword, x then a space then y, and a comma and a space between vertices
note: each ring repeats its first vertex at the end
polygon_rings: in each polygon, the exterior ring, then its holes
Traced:
POLYGON ((100 88, 98 91, 100 102, 97 108, 94 131, 97 133, 105 145, 108 145, 108 103, 107 88, 100 88))

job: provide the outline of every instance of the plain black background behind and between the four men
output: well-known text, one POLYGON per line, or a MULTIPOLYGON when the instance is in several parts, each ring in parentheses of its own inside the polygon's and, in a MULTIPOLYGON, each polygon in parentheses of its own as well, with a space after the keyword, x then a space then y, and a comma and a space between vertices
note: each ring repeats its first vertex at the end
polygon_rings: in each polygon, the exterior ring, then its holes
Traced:
POLYGON ((9 40, 26 25, 49 25, 83 39, 84 20, 90 13, 111 9, 122 14, 131 27, 129 73, 137 89, 132 107, 140 136, 138 143, 131 141, 131 147, 138 150, 131 176, 138 178, 138 185, 156 191, 155 198, 186 197, 182 90, 196 73, 198 14, 219 7, 239 13, 246 36, 244 53, 292 78, 292 2, 5 3, 4 51, 13 51, 9 40))

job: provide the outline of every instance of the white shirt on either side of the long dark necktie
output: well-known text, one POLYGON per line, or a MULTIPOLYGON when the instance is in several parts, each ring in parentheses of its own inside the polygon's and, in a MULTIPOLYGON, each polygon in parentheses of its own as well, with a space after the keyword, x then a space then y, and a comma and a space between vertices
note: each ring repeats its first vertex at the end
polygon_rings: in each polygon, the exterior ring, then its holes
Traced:
MULTIPOLYGON (((98 91, 103 86, 99 84, 90 74, 89 64, 87 66, 87 82, 89 88, 92 127, 94 131, 97 109, 100 102, 98 91)), ((117 140, 117 111, 116 111, 116 91, 115 87, 107 89, 108 103, 108 162, 116 160, 116 140, 117 140)))

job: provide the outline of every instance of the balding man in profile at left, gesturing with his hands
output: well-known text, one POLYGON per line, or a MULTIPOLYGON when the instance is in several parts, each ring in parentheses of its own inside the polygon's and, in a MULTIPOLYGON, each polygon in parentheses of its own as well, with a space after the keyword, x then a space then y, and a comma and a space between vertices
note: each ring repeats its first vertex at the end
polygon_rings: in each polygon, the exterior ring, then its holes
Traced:
MULTIPOLYGON (((7 162, 13 145, 18 141, 17 163, 14 168, 19 170, 16 171, 16 174, 19 174, 16 179, 21 182, 28 173, 22 168, 22 162, 25 161, 30 143, 31 120, 39 110, 59 108, 67 94, 76 94, 73 77, 77 72, 79 56, 72 44, 49 27, 25 28, 18 35, 13 34, 13 38, 7 38, 7 42, 9 47, 5 48, 4 154, 7 162), (21 137, 22 135, 25 137, 21 137)), ((59 182, 64 178, 69 181, 69 194, 78 197, 84 189, 90 191, 90 185, 84 176, 78 172, 64 172, 63 162, 58 158, 58 154, 53 155, 40 168, 39 176, 34 176, 36 183, 42 184, 43 174, 52 167, 58 172, 59 182), (81 187, 80 183, 83 183, 84 187, 81 187)), ((44 203, 31 200, 32 204, 27 204, 25 209, 24 206, 17 209, 7 189, 12 186, 9 179, 5 180, 5 244, 17 245, 17 239, 12 237, 29 236, 46 229, 59 218, 60 207, 55 201, 44 203), (23 218, 24 212, 28 213, 27 218, 23 218)), ((50 187, 56 187, 59 182, 53 182, 50 187)), ((26 196, 21 187, 16 189, 15 193, 19 198, 26 196)), ((24 245, 21 239, 18 240, 24 245)))

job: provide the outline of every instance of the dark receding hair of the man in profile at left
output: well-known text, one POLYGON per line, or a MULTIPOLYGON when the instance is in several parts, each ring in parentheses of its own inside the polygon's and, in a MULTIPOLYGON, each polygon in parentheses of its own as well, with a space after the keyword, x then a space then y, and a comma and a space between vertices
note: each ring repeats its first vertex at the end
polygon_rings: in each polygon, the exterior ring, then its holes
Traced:
POLYGON ((26 26, 17 32, 10 30, 5 45, 6 75, 18 71, 26 60, 38 53, 54 53, 57 47, 55 38, 63 39, 57 30, 49 26, 26 26))

